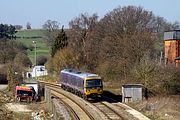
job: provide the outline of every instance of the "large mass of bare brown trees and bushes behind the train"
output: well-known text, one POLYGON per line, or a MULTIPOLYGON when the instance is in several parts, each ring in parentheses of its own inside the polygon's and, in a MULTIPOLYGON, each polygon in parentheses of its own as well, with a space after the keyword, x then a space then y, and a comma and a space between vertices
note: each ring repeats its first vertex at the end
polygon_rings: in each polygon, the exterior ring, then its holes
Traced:
POLYGON ((69 22, 66 34, 58 28, 56 21, 44 24, 52 52, 59 46, 47 63, 57 75, 63 68, 74 68, 98 73, 119 85, 140 83, 153 94, 179 93, 179 71, 158 61, 163 32, 179 29, 179 22, 167 22, 142 7, 126 6, 101 19, 97 14, 82 13, 69 22))

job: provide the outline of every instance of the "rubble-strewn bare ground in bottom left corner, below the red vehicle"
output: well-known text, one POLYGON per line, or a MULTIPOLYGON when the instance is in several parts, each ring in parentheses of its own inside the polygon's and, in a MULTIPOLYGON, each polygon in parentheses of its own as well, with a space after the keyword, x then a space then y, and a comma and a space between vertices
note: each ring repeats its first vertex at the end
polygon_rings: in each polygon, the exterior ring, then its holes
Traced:
POLYGON ((0 85, 0 120, 41 120, 52 117, 45 102, 16 102, 6 87, 7 85, 0 85))

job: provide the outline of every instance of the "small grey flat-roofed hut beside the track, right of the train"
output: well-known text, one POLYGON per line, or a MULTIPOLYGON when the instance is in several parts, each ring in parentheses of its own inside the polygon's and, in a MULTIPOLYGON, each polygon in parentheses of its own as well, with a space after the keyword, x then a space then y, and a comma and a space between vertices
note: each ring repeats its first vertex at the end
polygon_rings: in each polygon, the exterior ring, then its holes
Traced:
POLYGON ((134 102, 142 100, 142 84, 122 85, 122 102, 134 102))

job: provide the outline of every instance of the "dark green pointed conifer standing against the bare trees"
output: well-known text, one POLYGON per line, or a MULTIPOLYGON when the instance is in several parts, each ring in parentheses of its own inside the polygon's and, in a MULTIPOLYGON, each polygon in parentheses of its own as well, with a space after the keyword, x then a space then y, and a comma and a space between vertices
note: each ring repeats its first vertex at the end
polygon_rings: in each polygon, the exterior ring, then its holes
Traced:
POLYGON ((64 26, 62 26, 61 32, 58 33, 54 44, 51 48, 51 56, 54 57, 54 55, 56 54, 56 52, 60 49, 63 49, 64 47, 66 47, 68 45, 68 41, 67 41, 67 35, 63 29, 64 26))

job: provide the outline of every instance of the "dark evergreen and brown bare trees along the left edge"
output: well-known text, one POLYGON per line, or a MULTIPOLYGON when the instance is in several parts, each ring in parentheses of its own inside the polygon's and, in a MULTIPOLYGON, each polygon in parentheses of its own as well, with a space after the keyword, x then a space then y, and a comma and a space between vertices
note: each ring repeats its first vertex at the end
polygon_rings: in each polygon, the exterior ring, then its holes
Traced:
POLYGON ((25 47, 16 41, 16 26, 0 24, 0 83, 8 80, 9 90, 22 82, 23 72, 31 65, 25 47))

